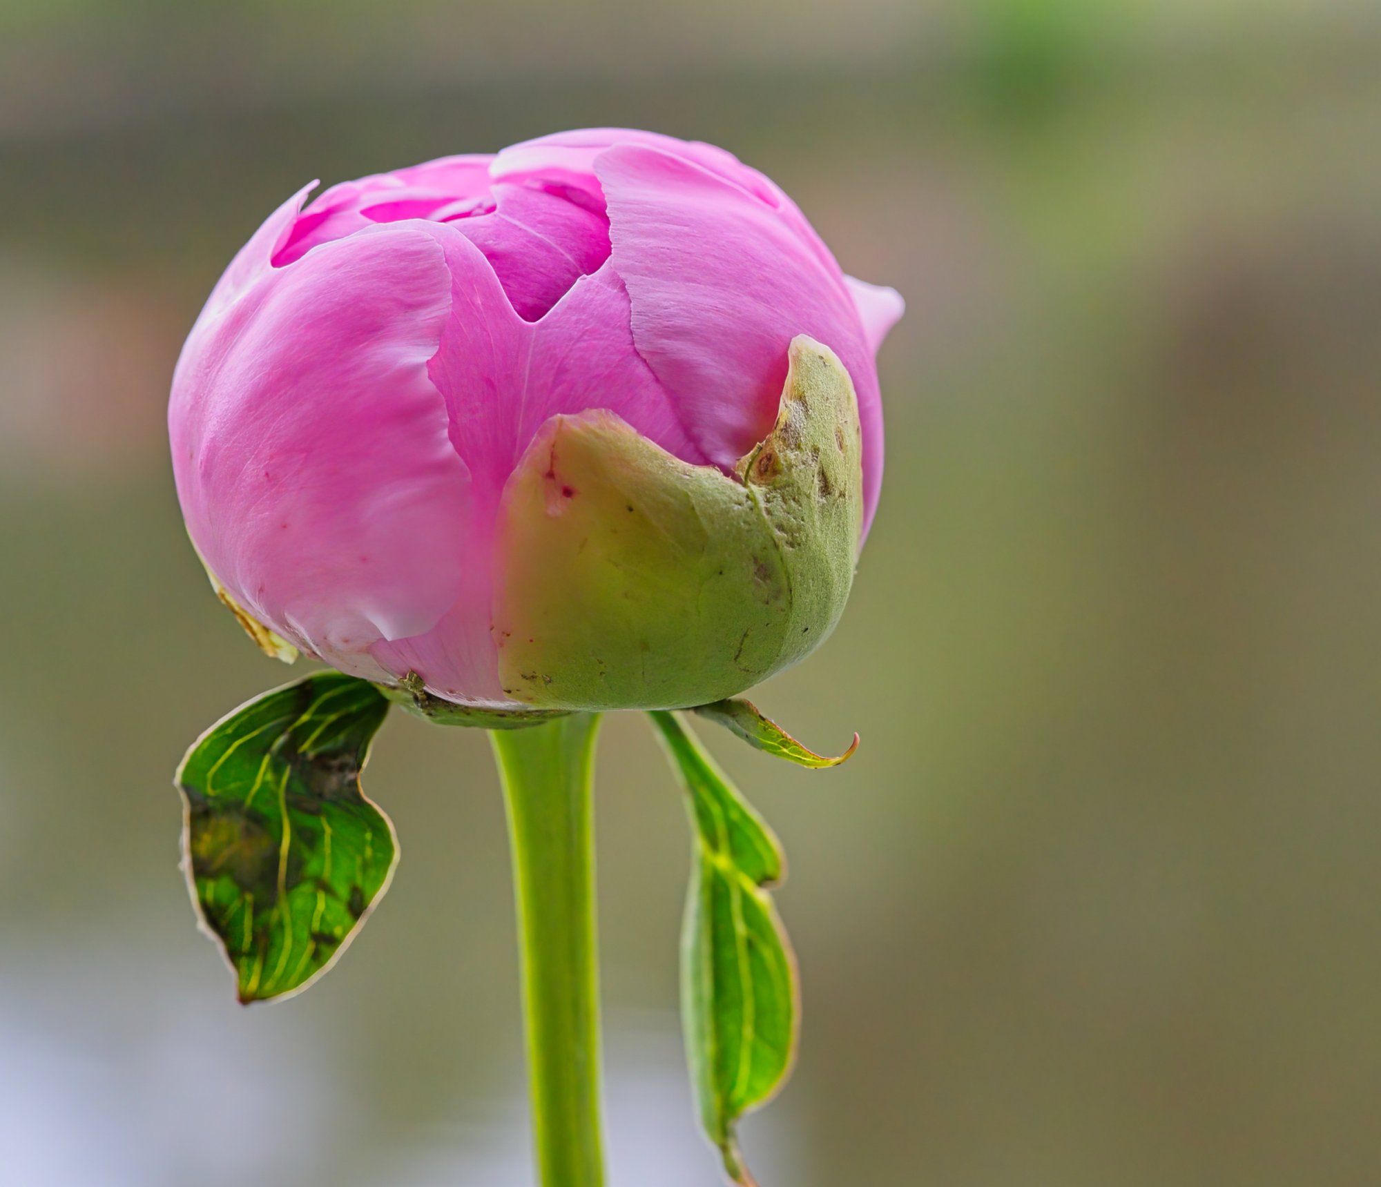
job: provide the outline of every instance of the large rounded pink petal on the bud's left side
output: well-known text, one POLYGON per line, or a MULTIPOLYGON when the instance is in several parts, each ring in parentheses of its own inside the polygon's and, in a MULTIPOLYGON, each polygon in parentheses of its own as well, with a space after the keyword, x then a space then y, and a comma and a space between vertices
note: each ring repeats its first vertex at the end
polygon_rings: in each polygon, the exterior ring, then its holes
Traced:
POLYGON ((471 483, 428 360, 452 309, 434 236, 396 224, 262 269, 203 315, 168 428, 193 542, 255 618, 342 671, 456 600, 471 483))

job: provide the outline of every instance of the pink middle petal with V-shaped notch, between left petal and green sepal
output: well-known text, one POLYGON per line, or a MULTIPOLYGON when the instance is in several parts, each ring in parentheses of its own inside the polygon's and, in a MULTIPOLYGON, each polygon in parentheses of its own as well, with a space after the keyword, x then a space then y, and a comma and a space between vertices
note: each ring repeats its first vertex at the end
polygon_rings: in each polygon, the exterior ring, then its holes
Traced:
POLYGON ((429 373, 446 399, 452 443, 471 473, 460 594, 425 634, 377 643, 380 665, 417 672, 438 696, 511 705, 490 634, 494 519, 504 483, 555 413, 609 409, 685 461, 704 457, 638 355, 628 295, 606 264, 537 322, 514 311, 494 269, 452 224, 425 226, 446 247, 452 316, 429 373))

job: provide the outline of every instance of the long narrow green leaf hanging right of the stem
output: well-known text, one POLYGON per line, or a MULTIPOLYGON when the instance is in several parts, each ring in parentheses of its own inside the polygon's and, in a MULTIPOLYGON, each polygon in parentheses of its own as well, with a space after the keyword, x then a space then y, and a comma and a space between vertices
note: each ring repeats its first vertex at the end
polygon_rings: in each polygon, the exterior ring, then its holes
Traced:
POLYGON ((765 887, 782 881, 778 839, 681 720, 649 715, 681 776, 695 861, 681 936, 686 1057, 706 1135, 724 1168, 753 1187, 739 1118, 765 1103, 795 1057, 795 958, 765 887))

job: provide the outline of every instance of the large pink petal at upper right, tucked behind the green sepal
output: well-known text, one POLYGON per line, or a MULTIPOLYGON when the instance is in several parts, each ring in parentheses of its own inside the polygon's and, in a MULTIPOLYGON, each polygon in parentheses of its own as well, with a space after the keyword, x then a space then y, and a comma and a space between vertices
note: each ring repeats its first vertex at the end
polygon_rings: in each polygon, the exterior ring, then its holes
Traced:
POLYGON ((765 202, 684 157, 617 145, 595 171, 634 342, 710 461, 729 471, 771 431, 791 338, 809 334, 840 356, 863 425, 866 531, 882 482, 882 407, 837 266, 765 202))

